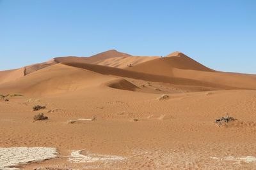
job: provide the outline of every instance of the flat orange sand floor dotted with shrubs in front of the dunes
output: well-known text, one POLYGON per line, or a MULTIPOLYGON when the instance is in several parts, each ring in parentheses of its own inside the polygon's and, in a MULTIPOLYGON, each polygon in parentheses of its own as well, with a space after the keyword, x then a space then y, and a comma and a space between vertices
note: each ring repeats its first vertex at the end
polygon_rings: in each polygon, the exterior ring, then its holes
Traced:
POLYGON ((161 92, 93 87, 76 94, 12 97, 0 103, 0 147, 57 148, 57 158, 22 169, 255 168, 256 90, 168 95, 170 99, 159 101, 161 92), (37 104, 46 109, 32 111, 37 104), (45 113, 49 120, 33 122, 36 113, 45 113), (238 121, 228 127, 214 124, 226 113, 238 121), (78 120, 93 117, 95 121, 78 120), (74 150, 99 159, 72 161, 68 156, 74 150))

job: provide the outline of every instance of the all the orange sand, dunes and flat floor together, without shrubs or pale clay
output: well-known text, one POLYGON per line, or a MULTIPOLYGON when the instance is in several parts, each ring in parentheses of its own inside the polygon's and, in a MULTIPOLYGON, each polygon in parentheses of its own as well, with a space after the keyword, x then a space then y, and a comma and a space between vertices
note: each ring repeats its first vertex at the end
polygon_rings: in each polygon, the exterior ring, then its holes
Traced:
POLYGON ((23 169, 256 166, 255 75, 214 71, 180 52, 151 58, 116 50, 25 68, 0 72, 0 94, 24 95, 0 99, 0 147, 56 147, 59 155, 23 169), (159 101, 163 94, 169 98, 159 101), (46 109, 32 111, 37 104, 46 109), (49 120, 33 122, 37 113, 49 120), (214 124, 226 113, 238 121, 214 124), (73 150, 102 160, 72 162, 73 150))

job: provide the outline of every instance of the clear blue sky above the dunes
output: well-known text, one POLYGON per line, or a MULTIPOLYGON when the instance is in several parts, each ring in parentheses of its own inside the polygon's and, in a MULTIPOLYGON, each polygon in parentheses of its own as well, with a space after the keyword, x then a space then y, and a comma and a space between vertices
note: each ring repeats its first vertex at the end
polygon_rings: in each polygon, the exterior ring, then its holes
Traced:
POLYGON ((0 70, 109 49, 256 73, 256 1, 0 0, 0 70))

